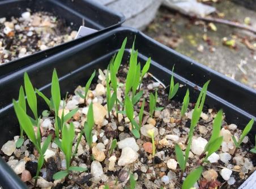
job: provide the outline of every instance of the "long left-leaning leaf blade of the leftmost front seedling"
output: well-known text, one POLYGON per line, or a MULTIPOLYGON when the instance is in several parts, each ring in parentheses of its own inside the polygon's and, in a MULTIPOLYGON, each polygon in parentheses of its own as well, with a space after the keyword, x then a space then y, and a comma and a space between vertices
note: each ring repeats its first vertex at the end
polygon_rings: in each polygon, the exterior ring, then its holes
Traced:
POLYGON ((18 117, 20 126, 22 126, 25 134, 27 134, 28 138, 32 141, 32 143, 36 145, 36 135, 31 120, 15 100, 12 100, 12 103, 14 104, 14 110, 18 117))

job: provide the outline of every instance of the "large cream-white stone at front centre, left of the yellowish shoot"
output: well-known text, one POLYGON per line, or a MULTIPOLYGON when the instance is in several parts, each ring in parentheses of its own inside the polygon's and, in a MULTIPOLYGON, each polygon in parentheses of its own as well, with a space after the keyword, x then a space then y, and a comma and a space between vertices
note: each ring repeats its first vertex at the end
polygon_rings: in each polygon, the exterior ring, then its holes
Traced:
POLYGON ((135 152, 132 148, 125 147, 122 149, 121 156, 118 160, 118 165, 125 166, 125 165, 132 164, 138 159, 138 157, 139 157, 139 154, 135 152))

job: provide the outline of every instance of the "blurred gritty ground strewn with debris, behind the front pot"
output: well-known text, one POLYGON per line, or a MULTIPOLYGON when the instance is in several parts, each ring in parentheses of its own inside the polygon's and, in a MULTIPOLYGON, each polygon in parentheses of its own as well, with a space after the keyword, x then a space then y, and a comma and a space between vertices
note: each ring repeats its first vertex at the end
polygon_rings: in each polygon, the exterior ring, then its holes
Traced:
MULTIPOLYGON (((219 15, 224 16, 223 19, 244 23, 244 19, 249 17, 251 25, 256 28, 255 11, 228 0, 213 3, 212 6, 217 8, 219 15)), ((212 31, 208 23, 189 19, 160 7, 155 20, 144 33, 195 61, 256 89, 256 33, 214 24, 217 31, 212 31), (233 48, 223 45, 224 37, 234 41, 233 48)))

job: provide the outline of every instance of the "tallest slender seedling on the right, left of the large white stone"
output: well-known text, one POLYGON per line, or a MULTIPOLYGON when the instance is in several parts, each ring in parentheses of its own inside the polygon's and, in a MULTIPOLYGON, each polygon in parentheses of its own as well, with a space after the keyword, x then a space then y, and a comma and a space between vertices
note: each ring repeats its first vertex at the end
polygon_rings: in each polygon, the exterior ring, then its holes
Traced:
POLYGON ((197 103, 195 104, 195 108, 192 113, 192 119, 191 119, 191 124, 190 124, 190 130, 189 130, 189 135, 187 136, 187 140, 185 144, 188 143, 189 139, 192 140, 192 136, 194 133, 195 126, 197 126, 197 123, 199 121, 200 115, 203 110, 203 105, 204 105, 204 100, 206 99, 206 92, 207 92, 207 87, 208 84, 210 83, 210 80, 208 80, 204 85, 203 88, 198 96, 197 103))

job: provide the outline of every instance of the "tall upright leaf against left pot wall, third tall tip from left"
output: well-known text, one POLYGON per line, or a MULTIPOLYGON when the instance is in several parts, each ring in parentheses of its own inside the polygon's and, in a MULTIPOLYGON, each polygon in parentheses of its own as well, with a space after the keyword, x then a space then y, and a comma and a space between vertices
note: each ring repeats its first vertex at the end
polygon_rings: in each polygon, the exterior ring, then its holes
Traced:
POLYGON ((59 89, 59 79, 56 69, 53 70, 52 87, 51 87, 54 111, 58 115, 59 104, 61 103, 61 92, 59 89))

